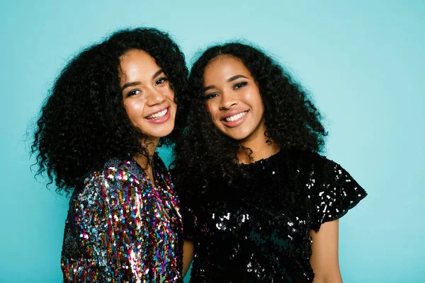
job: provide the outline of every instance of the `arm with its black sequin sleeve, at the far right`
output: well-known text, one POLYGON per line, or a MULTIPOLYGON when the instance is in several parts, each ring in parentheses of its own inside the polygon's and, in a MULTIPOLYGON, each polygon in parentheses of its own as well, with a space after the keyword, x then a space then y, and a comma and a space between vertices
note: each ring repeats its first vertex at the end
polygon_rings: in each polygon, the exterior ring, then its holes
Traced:
POLYGON ((338 163, 323 156, 312 160, 308 183, 312 209, 314 282, 342 282, 338 259, 338 219, 367 194, 338 163))

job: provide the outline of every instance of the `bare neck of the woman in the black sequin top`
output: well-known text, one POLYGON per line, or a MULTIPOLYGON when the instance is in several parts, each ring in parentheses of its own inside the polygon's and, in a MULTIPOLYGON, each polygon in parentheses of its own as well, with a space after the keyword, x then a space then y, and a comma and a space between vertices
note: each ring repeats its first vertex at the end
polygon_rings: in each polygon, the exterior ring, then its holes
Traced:
POLYGON ((265 131, 266 129, 264 127, 263 129, 256 131, 256 134, 249 137, 249 139, 239 141, 240 146, 244 146, 252 151, 246 151, 243 149, 239 150, 237 152, 239 162, 244 164, 252 163, 263 158, 268 158, 280 151, 278 144, 264 135, 265 131), (269 141, 267 142, 267 140, 269 141))

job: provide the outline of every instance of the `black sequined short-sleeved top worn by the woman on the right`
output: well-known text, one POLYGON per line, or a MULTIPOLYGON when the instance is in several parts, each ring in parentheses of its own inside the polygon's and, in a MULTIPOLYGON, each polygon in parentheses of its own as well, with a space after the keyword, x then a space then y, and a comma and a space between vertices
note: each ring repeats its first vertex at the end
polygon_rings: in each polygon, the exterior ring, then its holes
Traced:
POLYGON ((312 238, 366 192, 339 164, 283 152, 246 166, 228 187, 209 180, 201 200, 182 196, 184 236, 195 243, 194 282, 312 282, 312 238))

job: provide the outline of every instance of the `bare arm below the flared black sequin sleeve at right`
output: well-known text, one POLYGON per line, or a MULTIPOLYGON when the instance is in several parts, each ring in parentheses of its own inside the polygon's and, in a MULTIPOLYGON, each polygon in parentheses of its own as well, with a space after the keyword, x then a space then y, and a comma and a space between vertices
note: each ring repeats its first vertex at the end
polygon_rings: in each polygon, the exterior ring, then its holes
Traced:
POLYGON ((338 220, 325 222, 318 232, 311 231, 314 283, 342 283, 338 260, 338 220))

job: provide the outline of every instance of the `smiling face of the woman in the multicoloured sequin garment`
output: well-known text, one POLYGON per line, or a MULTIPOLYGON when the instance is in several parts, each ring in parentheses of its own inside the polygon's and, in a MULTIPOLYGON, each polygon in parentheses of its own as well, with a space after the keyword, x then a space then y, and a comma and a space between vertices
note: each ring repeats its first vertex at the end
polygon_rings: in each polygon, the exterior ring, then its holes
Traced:
POLYGON ((155 59, 143 50, 130 50, 120 58, 123 104, 135 127, 156 142, 174 129, 176 103, 169 79, 155 59))

